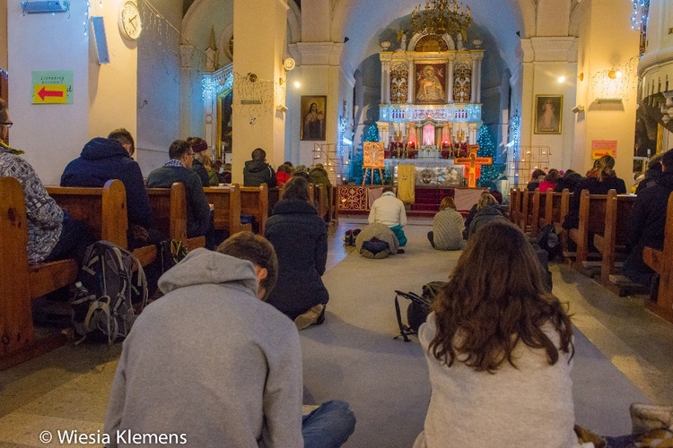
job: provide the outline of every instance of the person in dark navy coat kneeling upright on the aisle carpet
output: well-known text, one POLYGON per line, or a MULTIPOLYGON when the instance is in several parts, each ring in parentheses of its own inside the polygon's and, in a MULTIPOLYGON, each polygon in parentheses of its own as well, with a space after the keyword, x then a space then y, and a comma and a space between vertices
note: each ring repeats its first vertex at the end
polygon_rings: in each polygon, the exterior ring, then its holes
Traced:
POLYGON ((278 255, 278 281, 267 303, 302 330, 325 319, 328 290, 320 278, 328 260, 328 231, 309 199, 309 183, 292 177, 267 220, 265 237, 278 255))

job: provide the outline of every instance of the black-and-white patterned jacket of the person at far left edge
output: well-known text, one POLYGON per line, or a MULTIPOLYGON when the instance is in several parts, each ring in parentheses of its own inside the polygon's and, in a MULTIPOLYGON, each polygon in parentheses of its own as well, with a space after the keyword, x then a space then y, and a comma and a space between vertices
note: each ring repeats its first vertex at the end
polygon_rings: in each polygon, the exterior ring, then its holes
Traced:
POLYGON ((43 262, 63 230, 63 210, 52 199, 26 160, 0 145, 0 176, 14 177, 23 187, 28 221, 28 263, 43 262))

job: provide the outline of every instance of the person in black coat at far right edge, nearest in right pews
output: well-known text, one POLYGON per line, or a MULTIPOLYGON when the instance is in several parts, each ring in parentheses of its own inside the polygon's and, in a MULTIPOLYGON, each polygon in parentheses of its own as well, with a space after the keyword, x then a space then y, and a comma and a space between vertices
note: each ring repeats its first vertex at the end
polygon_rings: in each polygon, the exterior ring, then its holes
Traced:
MULTIPOLYGON (((642 248, 664 246, 664 228, 669 195, 673 193, 673 150, 661 157, 663 171, 635 198, 634 208, 629 216, 629 248, 631 252, 624 263, 625 276, 642 285, 655 287, 654 271, 642 261, 642 248)), ((654 297, 656 298, 656 297, 654 297)))

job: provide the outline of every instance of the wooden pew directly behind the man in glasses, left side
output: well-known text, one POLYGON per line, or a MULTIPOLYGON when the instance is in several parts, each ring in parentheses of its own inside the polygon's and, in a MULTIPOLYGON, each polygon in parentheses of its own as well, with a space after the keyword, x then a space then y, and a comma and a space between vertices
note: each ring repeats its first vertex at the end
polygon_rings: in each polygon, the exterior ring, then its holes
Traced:
POLYGON ((187 237, 187 198, 185 185, 170 188, 147 188, 152 208, 152 227, 171 239, 182 241, 188 250, 205 246, 205 237, 187 237))

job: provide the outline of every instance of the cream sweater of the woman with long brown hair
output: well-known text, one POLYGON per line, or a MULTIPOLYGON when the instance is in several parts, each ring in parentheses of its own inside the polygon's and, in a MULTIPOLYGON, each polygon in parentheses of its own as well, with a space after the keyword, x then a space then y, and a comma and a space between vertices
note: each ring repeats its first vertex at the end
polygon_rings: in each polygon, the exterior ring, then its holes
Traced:
MULTIPOLYGON (((551 325, 546 335, 559 345, 551 325)), ((421 342, 433 395, 424 432, 414 447, 576 447, 570 355, 559 352, 554 366, 543 349, 523 343, 514 349, 517 368, 504 362, 495 374, 476 372, 460 360, 446 366, 428 352, 437 332, 434 314, 421 326, 421 342)))

